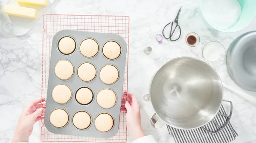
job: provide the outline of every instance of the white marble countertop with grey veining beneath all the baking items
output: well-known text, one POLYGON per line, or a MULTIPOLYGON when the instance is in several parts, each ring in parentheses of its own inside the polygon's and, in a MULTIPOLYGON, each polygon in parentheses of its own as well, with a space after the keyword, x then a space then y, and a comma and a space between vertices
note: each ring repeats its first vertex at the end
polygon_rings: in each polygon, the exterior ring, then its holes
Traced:
MULTIPOLYGON (((1 0, 0 6, 5 2, 1 0)), ((128 91, 139 100, 145 133, 154 135, 158 143, 174 143, 166 127, 153 129, 149 122, 154 110, 150 103, 143 101, 143 95, 148 93, 152 75, 170 59, 179 56, 197 57, 202 46, 209 41, 221 42, 227 50, 237 36, 256 30, 254 19, 247 28, 236 33, 214 31, 207 28, 199 11, 199 0, 61 0, 47 13, 130 17, 128 91), (161 33, 167 22, 174 20, 180 6, 181 38, 176 42, 164 39, 161 45, 158 44, 155 35, 161 33), (185 36, 189 32, 196 32, 201 37, 197 47, 186 45, 185 36), (143 48, 147 46, 153 48, 150 55, 143 53, 143 48)), ((0 143, 11 142, 23 107, 33 99, 41 98, 42 31, 41 19, 25 36, 0 36, 0 143)), ((225 64, 217 72, 224 83, 241 90, 230 79, 225 64)), ((232 143, 256 143, 256 105, 249 104, 228 90, 224 90, 224 99, 232 101, 234 106, 231 123, 239 136, 232 143)), ((35 125, 30 138, 33 143, 41 142, 39 126, 35 125)))

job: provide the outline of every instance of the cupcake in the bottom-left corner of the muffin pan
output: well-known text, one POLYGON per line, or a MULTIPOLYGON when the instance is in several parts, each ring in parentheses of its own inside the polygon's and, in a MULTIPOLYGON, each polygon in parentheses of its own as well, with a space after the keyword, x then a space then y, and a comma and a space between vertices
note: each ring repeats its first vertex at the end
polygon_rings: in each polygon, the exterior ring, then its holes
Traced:
POLYGON ((55 127, 63 127, 68 122, 68 114, 64 109, 55 109, 50 114, 50 123, 55 127))

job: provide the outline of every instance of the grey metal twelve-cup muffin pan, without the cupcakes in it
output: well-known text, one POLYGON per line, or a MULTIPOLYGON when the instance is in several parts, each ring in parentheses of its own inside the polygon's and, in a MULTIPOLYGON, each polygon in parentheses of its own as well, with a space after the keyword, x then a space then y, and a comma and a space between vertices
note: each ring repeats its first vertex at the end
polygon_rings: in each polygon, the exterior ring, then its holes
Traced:
POLYGON ((48 80, 48 90, 47 90, 47 106, 45 110, 44 124, 49 132, 54 134, 65 134, 65 135, 77 135, 86 137, 100 137, 100 138, 110 138, 116 135, 119 129, 119 118, 121 110, 124 74, 125 74, 125 62, 126 62, 126 52, 127 44, 125 40, 116 34, 102 34, 94 32, 84 32, 84 31, 70 31, 62 30, 55 34, 52 39, 52 51, 50 59, 50 69, 49 69, 49 80, 48 80), (58 42, 61 38, 69 36, 73 38, 76 42, 76 49, 73 53, 69 55, 64 55, 58 50, 58 42), (96 56, 92 58, 84 57, 79 50, 79 46, 84 39, 94 39, 99 45, 99 51, 96 56), (117 42, 121 47, 121 54, 117 59, 110 60, 107 59, 103 53, 103 45, 108 41, 117 42), (70 61, 74 66, 74 73, 70 79, 61 80, 55 76, 54 69, 55 64, 61 60, 66 59, 70 61), (96 67, 96 77, 92 81, 82 81, 77 75, 78 67, 81 63, 89 62, 96 67), (99 72, 105 65, 114 65, 119 71, 119 78, 114 84, 104 84, 99 79, 99 72), (66 104, 58 104, 52 99, 52 90, 58 84, 66 84, 70 87, 72 96, 70 101, 66 104), (88 87, 93 91, 93 100, 88 105, 81 105, 76 101, 75 94, 76 91, 81 87, 88 87), (96 96, 97 93, 102 89, 111 89, 116 93, 116 104, 110 109, 104 109, 97 104, 96 96), (49 121, 49 115, 55 109, 64 109, 69 115, 69 121, 66 126, 58 128, 52 126, 49 121), (73 125, 73 115, 79 111, 86 111, 91 116, 91 124, 87 129, 77 129, 73 125), (113 127, 108 132, 100 132, 95 128, 94 121, 97 115, 101 113, 108 113, 113 118, 113 127))

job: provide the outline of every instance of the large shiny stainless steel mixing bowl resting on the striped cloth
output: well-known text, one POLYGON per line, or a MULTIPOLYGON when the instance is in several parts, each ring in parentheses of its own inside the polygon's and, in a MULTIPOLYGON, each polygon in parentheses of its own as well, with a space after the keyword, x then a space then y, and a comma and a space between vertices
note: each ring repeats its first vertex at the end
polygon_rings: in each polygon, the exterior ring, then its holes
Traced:
POLYGON ((164 64, 154 75, 149 98, 165 123, 178 129, 194 129, 215 117, 221 107, 223 87, 209 64, 179 57, 164 64))

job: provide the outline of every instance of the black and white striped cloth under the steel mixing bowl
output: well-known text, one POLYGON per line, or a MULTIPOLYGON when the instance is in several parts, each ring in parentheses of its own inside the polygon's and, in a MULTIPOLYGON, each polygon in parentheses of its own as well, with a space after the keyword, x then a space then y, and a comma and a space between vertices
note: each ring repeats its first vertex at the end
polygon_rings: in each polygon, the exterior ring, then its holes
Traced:
MULTIPOLYGON (((219 112, 227 115, 222 105, 219 112)), ((218 114, 215 116, 215 121, 220 126, 222 126, 226 120, 227 119, 224 116, 218 114)), ((204 125, 204 127, 213 132, 218 130, 218 127, 216 127, 213 121, 210 121, 204 125)), ((175 129, 167 125, 167 129, 169 134, 174 137, 176 143, 229 143, 232 140, 235 140, 236 136, 238 136, 230 123, 228 123, 220 132, 215 134, 209 133, 202 128, 183 130, 175 129)))

